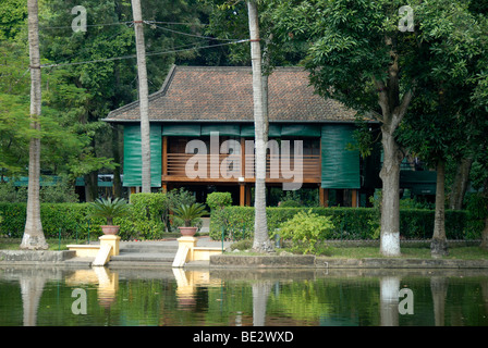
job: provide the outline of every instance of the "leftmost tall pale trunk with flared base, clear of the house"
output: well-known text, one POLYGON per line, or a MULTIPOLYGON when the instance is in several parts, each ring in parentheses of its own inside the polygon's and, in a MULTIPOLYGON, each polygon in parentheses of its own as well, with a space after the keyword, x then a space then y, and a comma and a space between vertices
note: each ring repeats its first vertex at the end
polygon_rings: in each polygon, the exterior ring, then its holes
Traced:
POLYGON ((36 134, 30 138, 28 160, 28 196, 27 219, 21 249, 47 249, 42 223, 40 221, 40 124, 41 89, 40 89, 40 54, 39 22, 37 0, 27 1, 28 11, 28 46, 30 59, 30 128, 36 134))

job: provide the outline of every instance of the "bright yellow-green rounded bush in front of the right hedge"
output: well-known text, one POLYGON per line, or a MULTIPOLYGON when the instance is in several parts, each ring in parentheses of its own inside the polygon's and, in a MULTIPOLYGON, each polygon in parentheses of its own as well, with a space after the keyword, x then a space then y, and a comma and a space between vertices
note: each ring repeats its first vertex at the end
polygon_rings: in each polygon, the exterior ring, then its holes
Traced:
POLYGON ((331 216, 318 215, 312 210, 300 211, 285 221, 280 228, 280 237, 292 240, 293 250, 316 253, 317 244, 329 238, 333 229, 331 216))

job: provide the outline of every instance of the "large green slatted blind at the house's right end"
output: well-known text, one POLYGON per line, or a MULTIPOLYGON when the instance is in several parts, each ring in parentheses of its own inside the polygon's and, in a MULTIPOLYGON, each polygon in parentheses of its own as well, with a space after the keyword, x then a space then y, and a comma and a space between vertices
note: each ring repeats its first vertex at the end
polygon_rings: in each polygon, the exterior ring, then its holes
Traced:
POLYGON ((359 152, 349 150, 354 126, 330 124, 321 127, 321 187, 361 188, 359 152))

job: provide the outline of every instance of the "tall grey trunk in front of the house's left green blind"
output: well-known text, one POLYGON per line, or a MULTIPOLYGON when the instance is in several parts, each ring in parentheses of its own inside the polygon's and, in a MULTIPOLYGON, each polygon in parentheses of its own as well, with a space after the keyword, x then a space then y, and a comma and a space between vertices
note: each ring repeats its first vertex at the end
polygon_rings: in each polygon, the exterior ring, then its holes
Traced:
POLYGON ((146 71, 146 47, 144 44, 144 24, 141 1, 132 0, 134 16, 135 42, 137 50, 137 74, 139 85, 141 110, 141 150, 142 150, 142 191, 150 192, 150 134, 149 134, 149 100, 146 71))

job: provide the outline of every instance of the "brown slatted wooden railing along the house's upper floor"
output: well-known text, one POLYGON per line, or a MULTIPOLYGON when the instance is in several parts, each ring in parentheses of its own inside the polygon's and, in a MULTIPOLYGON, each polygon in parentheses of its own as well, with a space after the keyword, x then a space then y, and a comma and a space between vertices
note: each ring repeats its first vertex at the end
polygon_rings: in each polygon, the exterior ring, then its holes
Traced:
MULTIPOLYGON (((167 163, 163 161, 163 179, 183 179, 198 176, 198 178, 207 179, 237 179, 244 177, 254 179, 255 166, 254 156, 246 154, 192 154, 192 153, 167 153, 167 163), (241 165, 244 162, 244 171, 241 171, 241 165), (186 167, 188 165, 188 169, 186 167), (206 169, 205 169, 206 166, 206 169)), ((304 154, 302 158, 302 171, 295 169, 295 161, 293 157, 272 156, 268 154, 266 177, 269 181, 289 181, 293 179, 295 175, 302 175, 304 182, 320 182, 320 156, 304 154)))

